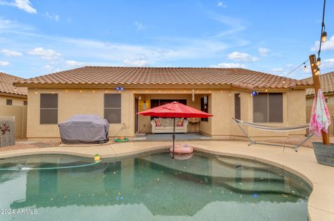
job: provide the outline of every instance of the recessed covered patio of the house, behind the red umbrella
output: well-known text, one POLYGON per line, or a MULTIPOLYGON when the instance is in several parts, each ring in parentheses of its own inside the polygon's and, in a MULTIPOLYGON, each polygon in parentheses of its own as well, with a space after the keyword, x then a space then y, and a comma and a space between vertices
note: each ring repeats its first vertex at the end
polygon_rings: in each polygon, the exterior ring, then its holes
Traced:
MULTIPOLYGON (((135 113, 142 112, 146 109, 165 105, 177 101, 189 107, 196 108, 202 112, 211 112, 211 91, 209 90, 193 90, 193 89, 155 89, 143 90, 138 89, 134 92, 134 107, 135 113)), ((151 121, 156 118, 153 116, 140 116, 134 114, 135 117, 135 140, 159 140, 168 139, 168 132, 152 134, 151 121), (143 135, 145 134, 145 138, 143 135)), ((209 134, 208 128, 211 127, 211 120, 205 118, 186 118, 187 133, 177 134, 178 139, 200 139, 207 137, 203 134, 209 134)))

